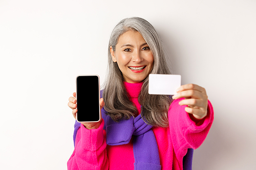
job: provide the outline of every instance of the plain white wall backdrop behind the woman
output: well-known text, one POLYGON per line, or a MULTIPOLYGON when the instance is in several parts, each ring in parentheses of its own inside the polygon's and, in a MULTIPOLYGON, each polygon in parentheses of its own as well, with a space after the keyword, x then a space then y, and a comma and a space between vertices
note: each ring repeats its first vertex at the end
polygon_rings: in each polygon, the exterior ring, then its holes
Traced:
POLYGON ((1 169, 67 169, 78 74, 104 81, 125 17, 160 32, 182 84, 206 88, 215 122, 193 169, 255 169, 256 1, 0 1, 1 169))

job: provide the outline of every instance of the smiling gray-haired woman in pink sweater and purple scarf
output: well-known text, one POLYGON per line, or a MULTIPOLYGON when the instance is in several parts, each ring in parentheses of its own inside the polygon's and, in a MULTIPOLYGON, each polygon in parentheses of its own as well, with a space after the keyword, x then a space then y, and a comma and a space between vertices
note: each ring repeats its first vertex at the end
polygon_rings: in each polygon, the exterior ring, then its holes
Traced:
MULTIPOLYGON (((149 74, 170 74, 160 37, 145 19, 125 18, 109 41, 102 118, 75 123, 68 169, 191 169, 214 119, 206 91, 186 84, 174 96, 151 95, 149 74)), ((75 96, 68 106, 76 118, 75 96)))

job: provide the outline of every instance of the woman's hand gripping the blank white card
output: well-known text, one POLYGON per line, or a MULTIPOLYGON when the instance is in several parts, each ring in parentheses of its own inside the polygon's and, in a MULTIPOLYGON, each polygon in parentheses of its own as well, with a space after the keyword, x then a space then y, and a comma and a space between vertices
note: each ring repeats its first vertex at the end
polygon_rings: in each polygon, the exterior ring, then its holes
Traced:
POLYGON ((185 98, 179 105, 187 105, 185 111, 195 118, 202 119, 207 115, 208 96, 206 90, 196 84, 185 84, 177 89, 173 99, 185 98))

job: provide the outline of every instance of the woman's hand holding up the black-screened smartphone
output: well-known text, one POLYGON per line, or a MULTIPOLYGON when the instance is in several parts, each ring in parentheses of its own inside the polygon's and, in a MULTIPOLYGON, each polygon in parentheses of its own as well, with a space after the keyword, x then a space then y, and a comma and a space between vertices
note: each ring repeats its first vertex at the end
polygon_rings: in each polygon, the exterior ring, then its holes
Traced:
MULTIPOLYGON (((77 113, 77 105, 76 105, 76 93, 73 93, 73 97, 71 96, 69 98, 69 103, 68 106, 72 109, 72 114, 74 116, 74 118, 76 119, 76 113, 77 113)), ((103 106, 105 105, 103 99, 100 99, 100 120, 99 122, 94 122, 94 123, 81 123, 84 127, 86 127, 87 129, 97 129, 99 128, 100 124, 101 124, 101 109, 103 108, 103 106)))

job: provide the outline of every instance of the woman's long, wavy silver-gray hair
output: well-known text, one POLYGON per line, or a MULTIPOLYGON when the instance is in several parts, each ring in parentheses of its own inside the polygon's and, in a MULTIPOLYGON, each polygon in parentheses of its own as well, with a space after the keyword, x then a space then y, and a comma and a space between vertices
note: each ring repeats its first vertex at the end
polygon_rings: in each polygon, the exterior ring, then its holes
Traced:
MULTIPOLYGON (((108 75, 106 76, 102 95, 105 102, 105 111, 116 122, 122 118, 127 119, 138 114, 136 106, 129 100, 123 85, 122 72, 117 62, 113 62, 110 51, 111 46, 114 51, 116 50, 118 38, 129 30, 138 31, 150 47, 154 56, 154 66, 151 74, 170 74, 160 37, 151 23, 139 17, 122 19, 116 25, 110 37, 108 75)), ((147 124, 159 127, 168 126, 168 108, 172 99, 168 95, 148 94, 148 76, 143 80, 138 100, 142 106, 141 116, 147 124)))

